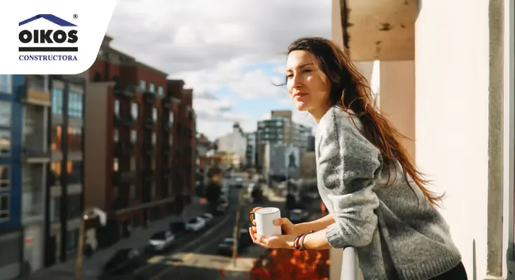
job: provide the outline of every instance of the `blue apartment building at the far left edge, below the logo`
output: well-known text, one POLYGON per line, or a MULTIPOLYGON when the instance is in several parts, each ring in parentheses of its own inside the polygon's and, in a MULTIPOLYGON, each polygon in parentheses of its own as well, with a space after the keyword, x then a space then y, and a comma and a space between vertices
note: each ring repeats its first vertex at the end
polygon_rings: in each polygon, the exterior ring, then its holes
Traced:
POLYGON ((0 279, 22 267, 22 177, 20 166, 23 76, 0 75, 0 279))

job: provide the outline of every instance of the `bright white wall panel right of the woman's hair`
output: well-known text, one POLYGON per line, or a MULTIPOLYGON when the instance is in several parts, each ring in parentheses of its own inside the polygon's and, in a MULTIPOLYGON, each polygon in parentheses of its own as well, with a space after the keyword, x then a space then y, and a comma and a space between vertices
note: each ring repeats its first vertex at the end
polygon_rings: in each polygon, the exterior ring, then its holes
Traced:
POLYGON ((486 278, 488 1, 420 0, 416 22, 416 162, 446 192, 470 279, 486 278), (473 3, 472 3, 473 2, 473 3))

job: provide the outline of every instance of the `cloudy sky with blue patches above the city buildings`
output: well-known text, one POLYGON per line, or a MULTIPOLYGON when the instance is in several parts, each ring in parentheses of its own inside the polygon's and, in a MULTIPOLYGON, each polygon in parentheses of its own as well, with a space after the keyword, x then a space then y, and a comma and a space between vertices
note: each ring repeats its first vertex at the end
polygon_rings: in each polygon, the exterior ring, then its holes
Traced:
POLYGON ((214 140, 245 132, 271 110, 298 112, 284 86, 287 45, 331 36, 330 0, 118 0, 111 45, 193 88, 197 131, 214 140))

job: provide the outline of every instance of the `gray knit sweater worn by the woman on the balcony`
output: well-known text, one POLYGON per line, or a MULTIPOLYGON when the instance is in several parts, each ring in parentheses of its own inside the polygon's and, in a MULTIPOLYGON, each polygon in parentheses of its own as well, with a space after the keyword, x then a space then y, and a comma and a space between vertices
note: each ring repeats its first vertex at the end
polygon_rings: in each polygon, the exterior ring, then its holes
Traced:
POLYGON ((336 221, 326 229, 329 244, 356 247, 365 280, 425 280, 458 265, 460 252, 444 218, 398 163, 397 170, 383 165, 357 116, 353 120, 358 129, 333 107, 315 136, 318 190, 336 221), (388 168, 394 183, 386 187, 388 168))

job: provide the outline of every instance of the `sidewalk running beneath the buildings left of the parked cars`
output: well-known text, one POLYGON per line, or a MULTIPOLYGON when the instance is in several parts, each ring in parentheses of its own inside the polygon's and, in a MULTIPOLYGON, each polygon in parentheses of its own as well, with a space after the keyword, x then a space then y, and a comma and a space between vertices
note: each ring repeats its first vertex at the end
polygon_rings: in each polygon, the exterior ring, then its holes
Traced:
MULTIPOLYGON (((169 223, 172 221, 180 221, 181 219, 193 218, 205 212, 205 205, 200 204, 198 199, 194 199, 190 205, 188 205, 181 215, 168 216, 149 223, 146 229, 134 228, 129 238, 121 239, 116 244, 108 248, 102 248, 92 255, 92 258, 83 259, 83 280, 96 279, 99 270, 102 265, 111 258, 114 252, 121 248, 138 248, 140 251, 148 244, 150 237, 159 230, 167 230, 169 223)), ((37 272, 32 273, 29 276, 29 280, 71 280, 75 276, 75 265, 76 258, 70 258, 67 262, 62 262, 41 269, 37 272)))

